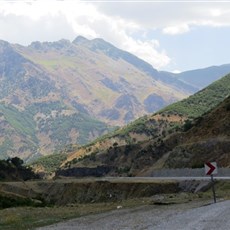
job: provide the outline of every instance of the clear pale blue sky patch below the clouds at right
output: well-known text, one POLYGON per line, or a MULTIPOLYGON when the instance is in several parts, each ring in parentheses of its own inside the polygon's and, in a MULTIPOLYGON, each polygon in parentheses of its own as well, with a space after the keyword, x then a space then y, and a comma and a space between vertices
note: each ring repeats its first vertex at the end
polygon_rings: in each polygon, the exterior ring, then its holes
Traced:
POLYGON ((230 28, 197 27, 188 33, 170 36, 153 31, 171 62, 166 70, 192 70, 230 63, 230 28))

